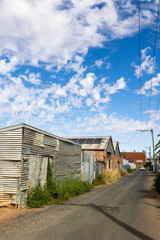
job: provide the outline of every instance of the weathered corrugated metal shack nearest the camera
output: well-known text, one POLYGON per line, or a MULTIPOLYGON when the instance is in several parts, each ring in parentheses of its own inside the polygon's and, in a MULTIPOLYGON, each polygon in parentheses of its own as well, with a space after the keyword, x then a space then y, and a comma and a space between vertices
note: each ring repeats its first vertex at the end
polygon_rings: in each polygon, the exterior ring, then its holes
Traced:
POLYGON ((44 186, 48 159, 55 180, 81 178, 81 145, 18 124, 0 129, 0 204, 24 207, 32 187, 44 186))

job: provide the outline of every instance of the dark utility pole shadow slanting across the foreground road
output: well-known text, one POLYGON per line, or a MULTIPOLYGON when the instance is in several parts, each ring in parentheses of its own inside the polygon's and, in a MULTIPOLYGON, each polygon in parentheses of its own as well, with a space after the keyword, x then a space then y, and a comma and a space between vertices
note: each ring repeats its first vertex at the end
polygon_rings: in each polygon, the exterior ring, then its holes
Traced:
POLYGON ((95 204, 61 204, 61 205, 73 205, 73 206, 80 206, 80 207, 91 207, 92 209, 102 213, 104 216, 106 216, 107 218, 109 218, 111 221, 113 221, 114 223, 118 224, 120 227, 124 228, 125 230, 127 230, 128 232, 132 233, 133 235, 135 235, 136 237, 140 238, 140 239, 144 239, 144 240, 154 240, 151 237, 148 237, 146 234, 136 230, 135 228, 129 226, 128 224, 120 221, 119 219, 117 219, 116 217, 114 217, 113 215, 107 213, 107 210, 111 210, 111 211, 119 211, 118 207, 104 207, 104 206, 97 206, 95 204))

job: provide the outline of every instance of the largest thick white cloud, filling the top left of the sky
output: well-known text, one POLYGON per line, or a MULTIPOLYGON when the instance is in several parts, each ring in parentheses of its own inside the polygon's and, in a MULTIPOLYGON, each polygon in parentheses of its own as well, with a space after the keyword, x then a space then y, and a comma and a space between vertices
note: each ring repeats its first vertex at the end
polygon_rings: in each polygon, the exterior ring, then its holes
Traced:
MULTIPOLYGON (((138 31, 137 13, 130 11, 136 5, 131 1, 104 0, 101 8, 100 3, 99 0, 2 0, 0 55, 7 55, 10 62, 15 56, 19 64, 48 69, 62 68, 68 61, 75 61, 72 68, 79 71, 75 56, 85 56, 89 47, 101 47, 104 41, 138 31)), ((142 28, 151 25, 154 16, 154 12, 142 9, 142 28)), ((2 72, 13 69, 6 62, 1 64, 2 72)))

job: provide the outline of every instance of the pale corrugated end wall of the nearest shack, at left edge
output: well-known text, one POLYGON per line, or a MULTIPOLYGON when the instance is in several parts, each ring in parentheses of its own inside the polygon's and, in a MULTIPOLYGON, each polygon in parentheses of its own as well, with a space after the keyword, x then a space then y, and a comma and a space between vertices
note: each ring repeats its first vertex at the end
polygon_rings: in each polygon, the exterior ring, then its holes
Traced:
POLYGON ((0 202, 18 201, 22 128, 0 133, 0 202))

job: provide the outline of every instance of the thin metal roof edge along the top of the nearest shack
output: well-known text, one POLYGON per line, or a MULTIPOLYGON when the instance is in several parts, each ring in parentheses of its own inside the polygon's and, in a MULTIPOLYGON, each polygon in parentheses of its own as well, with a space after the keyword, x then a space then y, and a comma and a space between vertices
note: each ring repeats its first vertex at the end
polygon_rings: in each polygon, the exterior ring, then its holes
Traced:
POLYGON ((20 124, 16 124, 16 125, 13 125, 13 126, 0 128, 0 133, 6 132, 6 131, 16 130, 16 129, 18 129, 18 128, 28 128, 28 129, 33 130, 33 131, 35 131, 35 132, 42 133, 42 134, 45 134, 45 135, 50 136, 50 137, 54 137, 54 138, 56 138, 56 139, 58 139, 58 140, 62 140, 62 141, 69 142, 69 143, 72 143, 72 144, 75 144, 75 145, 80 146, 79 143, 70 141, 70 140, 67 139, 67 138, 63 138, 63 137, 56 136, 56 135, 54 135, 54 134, 52 134, 52 133, 46 132, 46 131, 44 131, 44 130, 41 130, 41 129, 36 128, 36 127, 33 127, 33 126, 30 126, 30 125, 25 124, 25 123, 20 123, 20 124))

